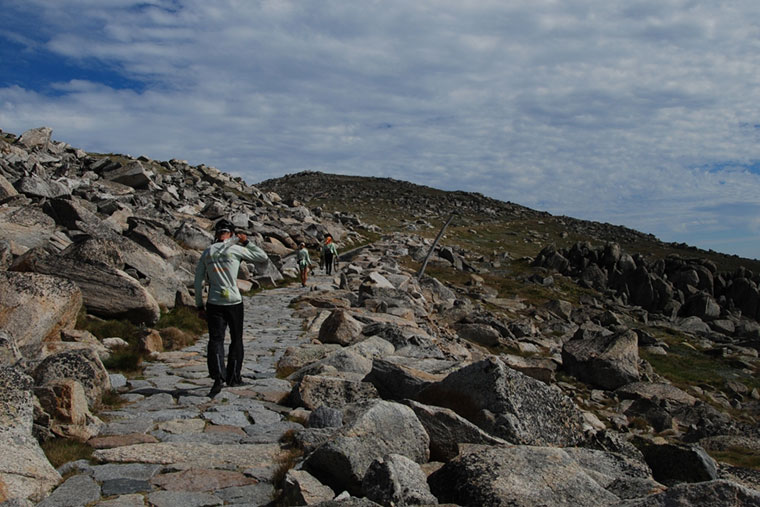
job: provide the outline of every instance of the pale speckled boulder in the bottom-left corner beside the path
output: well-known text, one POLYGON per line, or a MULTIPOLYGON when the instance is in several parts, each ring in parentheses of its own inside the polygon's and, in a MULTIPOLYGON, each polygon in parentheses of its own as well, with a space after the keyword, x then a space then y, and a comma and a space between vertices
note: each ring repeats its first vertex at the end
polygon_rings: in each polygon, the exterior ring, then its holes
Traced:
POLYGON ((4 500, 39 502, 61 480, 32 436, 32 379, 0 367, 0 492, 4 500))

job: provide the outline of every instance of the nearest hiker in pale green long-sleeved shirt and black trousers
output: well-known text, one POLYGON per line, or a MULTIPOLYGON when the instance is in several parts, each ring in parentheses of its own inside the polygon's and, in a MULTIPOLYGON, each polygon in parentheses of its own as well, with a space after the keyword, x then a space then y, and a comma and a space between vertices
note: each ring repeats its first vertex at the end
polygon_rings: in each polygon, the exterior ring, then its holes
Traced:
POLYGON ((214 226, 214 243, 209 246, 195 268, 195 305, 208 323, 209 376, 214 386, 209 392, 213 398, 222 390, 222 383, 241 385, 243 367, 243 298, 237 287, 240 261, 263 262, 268 259, 264 251, 251 243, 227 220, 214 226), (234 237, 233 237, 234 235, 234 237), (239 243, 239 244, 238 244, 239 243), (208 283, 208 301, 203 305, 203 281, 208 283), (230 328, 230 348, 227 368, 224 364, 224 334, 230 328))

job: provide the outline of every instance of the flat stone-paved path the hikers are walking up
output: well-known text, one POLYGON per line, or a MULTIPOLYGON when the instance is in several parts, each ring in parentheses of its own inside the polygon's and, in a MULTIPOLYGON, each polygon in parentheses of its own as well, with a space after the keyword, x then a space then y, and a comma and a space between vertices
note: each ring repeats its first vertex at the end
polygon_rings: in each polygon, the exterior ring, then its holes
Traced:
MULTIPOLYGON (((310 285, 329 281, 317 275, 310 285)), ((268 504, 288 458, 279 441, 301 427, 278 404, 290 383, 276 378, 275 364, 287 347, 311 338, 289 308, 309 289, 294 285, 246 299, 245 385, 213 400, 206 396, 208 335, 148 363, 144 377, 129 382, 129 403, 99 414, 107 424, 91 441, 97 464, 61 467, 70 477, 38 505, 268 504)))

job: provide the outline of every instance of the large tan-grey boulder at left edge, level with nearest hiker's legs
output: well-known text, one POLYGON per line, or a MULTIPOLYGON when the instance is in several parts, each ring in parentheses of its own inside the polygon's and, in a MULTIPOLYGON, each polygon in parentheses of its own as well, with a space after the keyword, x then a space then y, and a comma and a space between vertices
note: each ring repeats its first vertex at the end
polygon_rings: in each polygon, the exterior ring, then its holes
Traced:
POLYGON ((0 271, 0 328, 26 358, 36 358, 44 342, 72 329, 82 293, 70 280, 36 273, 0 271))

